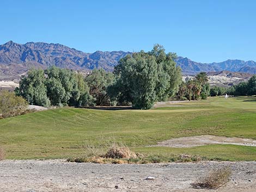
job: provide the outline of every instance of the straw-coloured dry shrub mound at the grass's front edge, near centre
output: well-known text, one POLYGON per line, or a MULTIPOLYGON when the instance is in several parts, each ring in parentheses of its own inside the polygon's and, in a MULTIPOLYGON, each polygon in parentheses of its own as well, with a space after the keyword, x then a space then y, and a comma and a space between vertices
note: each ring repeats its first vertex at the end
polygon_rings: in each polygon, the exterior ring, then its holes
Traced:
POLYGON ((105 158, 121 159, 121 158, 136 158, 136 154, 130 151, 130 148, 126 146, 118 146, 114 144, 107 153, 103 156, 105 158))

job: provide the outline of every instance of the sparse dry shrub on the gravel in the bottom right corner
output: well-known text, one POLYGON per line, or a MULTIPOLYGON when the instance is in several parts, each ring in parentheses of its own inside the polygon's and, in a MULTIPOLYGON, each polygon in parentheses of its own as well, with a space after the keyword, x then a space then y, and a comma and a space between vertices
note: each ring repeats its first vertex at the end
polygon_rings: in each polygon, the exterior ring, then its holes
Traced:
POLYGON ((209 173, 195 183, 192 183, 194 188, 219 188, 222 185, 228 183, 231 176, 231 169, 226 166, 209 171, 209 173))

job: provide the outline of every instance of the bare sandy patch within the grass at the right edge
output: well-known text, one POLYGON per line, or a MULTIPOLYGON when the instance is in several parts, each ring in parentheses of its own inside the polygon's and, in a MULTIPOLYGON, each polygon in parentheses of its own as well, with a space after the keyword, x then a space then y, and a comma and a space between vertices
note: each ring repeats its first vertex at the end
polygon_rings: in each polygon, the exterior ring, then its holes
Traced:
POLYGON ((196 147, 202 145, 212 144, 231 144, 231 145, 243 145, 243 146, 256 146, 256 140, 244 139, 236 137, 218 137, 214 135, 201 135, 194 137, 182 137, 176 139, 169 139, 166 141, 158 142, 155 146, 163 147, 196 147))

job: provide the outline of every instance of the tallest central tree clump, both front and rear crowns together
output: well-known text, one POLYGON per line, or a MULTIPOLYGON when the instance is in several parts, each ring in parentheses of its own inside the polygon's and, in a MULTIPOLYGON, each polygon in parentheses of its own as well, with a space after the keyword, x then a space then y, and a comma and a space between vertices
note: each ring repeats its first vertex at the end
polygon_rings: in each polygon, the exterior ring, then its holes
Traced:
POLYGON ((115 66, 115 83, 109 87, 111 98, 121 103, 132 103, 136 109, 149 109, 156 101, 173 96, 181 83, 180 68, 175 54, 164 52, 160 45, 153 50, 127 55, 115 66))

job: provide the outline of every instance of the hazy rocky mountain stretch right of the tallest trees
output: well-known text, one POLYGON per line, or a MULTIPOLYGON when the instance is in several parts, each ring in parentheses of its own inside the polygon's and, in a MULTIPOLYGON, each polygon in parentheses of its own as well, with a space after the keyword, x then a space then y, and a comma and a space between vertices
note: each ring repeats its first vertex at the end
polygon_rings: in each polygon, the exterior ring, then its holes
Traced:
POLYGON ((245 72, 256 73, 255 61, 243 61, 243 60, 227 60, 220 63, 198 63, 188 58, 178 57, 176 60, 177 65, 182 69, 185 75, 194 75, 200 71, 231 71, 231 72, 245 72))

